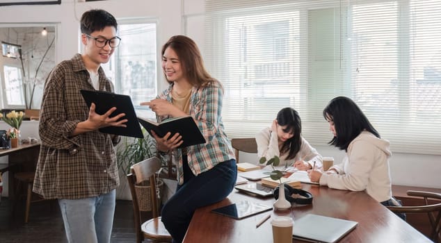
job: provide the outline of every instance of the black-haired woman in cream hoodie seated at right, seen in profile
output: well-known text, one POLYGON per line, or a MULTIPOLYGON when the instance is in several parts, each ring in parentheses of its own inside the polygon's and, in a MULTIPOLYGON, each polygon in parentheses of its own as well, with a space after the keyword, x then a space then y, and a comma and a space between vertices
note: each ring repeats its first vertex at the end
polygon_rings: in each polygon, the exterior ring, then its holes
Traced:
POLYGON ((366 190, 384 206, 401 206, 392 197, 389 142, 380 138, 357 104, 347 97, 336 97, 323 110, 323 117, 334 135, 329 144, 346 151, 346 156, 323 174, 308 171, 311 181, 339 190, 366 190))

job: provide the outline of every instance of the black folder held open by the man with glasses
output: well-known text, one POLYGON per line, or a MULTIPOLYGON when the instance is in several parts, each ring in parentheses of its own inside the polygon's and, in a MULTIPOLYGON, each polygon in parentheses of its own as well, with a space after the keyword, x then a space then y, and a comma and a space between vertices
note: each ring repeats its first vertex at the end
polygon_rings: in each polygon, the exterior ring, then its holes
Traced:
POLYGON ((138 122, 138 117, 136 117, 135 108, 128 95, 97 90, 80 90, 80 92, 88 107, 90 107, 91 103, 95 103, 95 112, 99 115, 103 115, 112 107, 116 107, 116 110, 110 117, 125 113, 125 117, 122 119, 128 120, 126 123, 127 127, 108 126, 105 128, 99 128, 100 132, 127 137, 144 137, 143 131, 141 131, 141 126, 138 122))

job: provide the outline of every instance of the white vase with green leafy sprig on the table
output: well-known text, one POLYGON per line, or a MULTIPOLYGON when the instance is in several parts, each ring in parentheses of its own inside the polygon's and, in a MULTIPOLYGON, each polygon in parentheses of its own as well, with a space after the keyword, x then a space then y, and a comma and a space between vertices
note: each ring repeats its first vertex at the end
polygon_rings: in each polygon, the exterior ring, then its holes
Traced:
POLYGON ((260 158, 259 163, 270 165, 273 168, 273 171, 270 173, 270 177, 273 180, 279 180, 279 197, 274 202, 273 206, 275 210, 287 210, 291 208, 291 203, 284 197, 284 183, 282 183, 283 172, 275 169, 276 166, 280 164, 280 158, 278 156, 274 156, 273 158, 266 160, 265 157, 260 158))

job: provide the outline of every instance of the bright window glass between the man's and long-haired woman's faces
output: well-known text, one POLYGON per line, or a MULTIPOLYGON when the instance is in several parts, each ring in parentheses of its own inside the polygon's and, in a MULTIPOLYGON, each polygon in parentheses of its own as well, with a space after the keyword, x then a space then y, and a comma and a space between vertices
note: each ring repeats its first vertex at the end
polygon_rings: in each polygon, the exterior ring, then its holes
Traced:
POLYGON ((103 65, 105 72, 115 84, 115 92, 131 97, 138 115, 151 117, 139 103, 157 96, 157 26, 122 22, 118 36, 121 43, 111 61, 103 65))

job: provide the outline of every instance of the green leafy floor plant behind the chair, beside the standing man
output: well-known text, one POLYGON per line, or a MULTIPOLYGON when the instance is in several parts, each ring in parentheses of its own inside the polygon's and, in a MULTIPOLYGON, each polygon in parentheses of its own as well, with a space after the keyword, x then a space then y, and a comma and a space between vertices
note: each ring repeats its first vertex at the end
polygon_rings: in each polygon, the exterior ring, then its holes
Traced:
POLYGON ((127 174, 131 165, 147 158, 157 156, 157 144, 153 137, 143 129, 143 138, 122 137, 116 148, 118 171, 120 172, 120 186, 116 192, 118 199, 131 200, 127 174))

